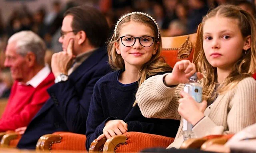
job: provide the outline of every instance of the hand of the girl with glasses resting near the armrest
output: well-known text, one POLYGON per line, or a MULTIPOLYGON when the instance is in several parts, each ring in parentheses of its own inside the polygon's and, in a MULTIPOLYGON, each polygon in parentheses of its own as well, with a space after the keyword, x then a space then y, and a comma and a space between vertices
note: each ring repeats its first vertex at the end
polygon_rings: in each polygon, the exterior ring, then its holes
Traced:
POLYGON ((128 125, 123 120, 110 120, 106 122, 103 133, 107 139, 114 135, 123 135, 128 131, 128 125))

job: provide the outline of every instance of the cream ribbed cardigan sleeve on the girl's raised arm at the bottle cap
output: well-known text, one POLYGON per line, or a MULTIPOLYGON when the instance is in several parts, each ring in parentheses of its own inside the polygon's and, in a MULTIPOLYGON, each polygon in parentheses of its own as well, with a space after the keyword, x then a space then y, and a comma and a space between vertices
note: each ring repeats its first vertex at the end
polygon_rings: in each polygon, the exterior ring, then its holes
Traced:
POLYGON ((167 74, 148 78, 136 93, 136 101, 146 118, 180 120, 178 100, 181 98, 179 92, 183 90, 184 84, 174 88, 165 86, 163 77, 167 74))

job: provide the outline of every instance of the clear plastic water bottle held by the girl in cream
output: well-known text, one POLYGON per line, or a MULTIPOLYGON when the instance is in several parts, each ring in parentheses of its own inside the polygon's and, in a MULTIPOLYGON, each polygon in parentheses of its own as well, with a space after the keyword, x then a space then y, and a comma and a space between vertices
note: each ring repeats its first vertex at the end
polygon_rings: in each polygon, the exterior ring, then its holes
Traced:
MULTIPOLYGON (((189 78, 189 82, 185 84, 184 91, 190 94, 196 102, 202 102, 202 86, 197 82, 198 78, 196 73, 189 78)), ((190 138, 196 138, 196 135, 192 131, 192 124, 183 119, 183 138, 184 140, 190 138)))

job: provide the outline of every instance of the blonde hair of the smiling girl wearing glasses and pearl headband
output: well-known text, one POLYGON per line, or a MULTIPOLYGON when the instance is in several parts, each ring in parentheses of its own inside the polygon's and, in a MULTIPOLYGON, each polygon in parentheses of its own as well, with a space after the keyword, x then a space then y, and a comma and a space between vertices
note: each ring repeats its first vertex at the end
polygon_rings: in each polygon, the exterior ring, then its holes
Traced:
MULTIPOLYGON (((123 18, 118 23, 118 26, 116 27, 116 33, 113 33, 110 41, 108 42, 108 61, 112 69, 120 70, 125 68, 124 59, 120 54, 116 52, 114 43, 116 43, 120 39, 120 29, 124 26, 125 23, 129 22, 143 23, 146 26, 150 27, 155 37, 154 45, 156 45, 156 43, 159 42, 156 54, 152 55, 151 59, 142 66, 138 73, 138 83, 140 86, 146 80, 147 77, 156 75, 159 72, 171 71, 172 68, 164 61, 164 58, 160 57, 160 52, 162 50, 162 41, 161 35, 159 36, 159 39, 157 39, 158 28, 156 27, 154 21, 143 14, 131 14, 130 16, 126 16, 125 18, 123 18)), ((136 104, 137 102, 135 101, 134 106, 136 104)))

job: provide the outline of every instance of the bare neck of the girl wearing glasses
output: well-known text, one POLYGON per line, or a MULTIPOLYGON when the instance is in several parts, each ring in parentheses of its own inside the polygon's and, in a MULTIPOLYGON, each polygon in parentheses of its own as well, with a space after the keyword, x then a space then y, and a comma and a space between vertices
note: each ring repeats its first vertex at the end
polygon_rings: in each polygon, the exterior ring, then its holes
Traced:
POLYGON ((119 76, 118 80, 122 84, 130 84, 138 81, 138 73, 140 68, 125 66, 125 71, 119 76))

